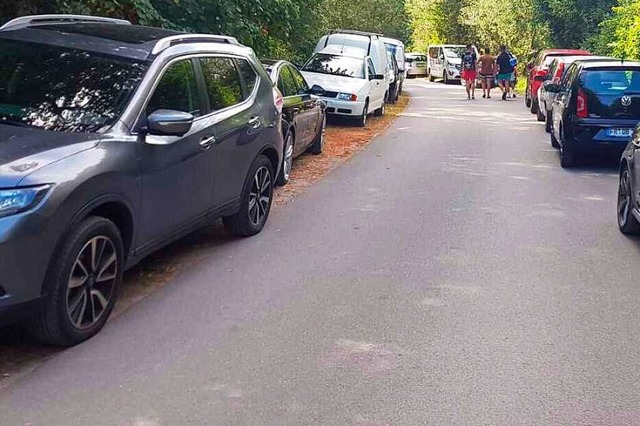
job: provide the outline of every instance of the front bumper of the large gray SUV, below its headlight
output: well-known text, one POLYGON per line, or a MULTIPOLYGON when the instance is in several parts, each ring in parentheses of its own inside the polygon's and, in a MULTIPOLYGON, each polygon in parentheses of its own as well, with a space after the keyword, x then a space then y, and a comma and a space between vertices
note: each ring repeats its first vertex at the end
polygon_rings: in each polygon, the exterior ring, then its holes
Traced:
POLYGON ((0 324, 28 316, 40 304, 55 246, 49 225, 37 211, 0 218, 0 324))

